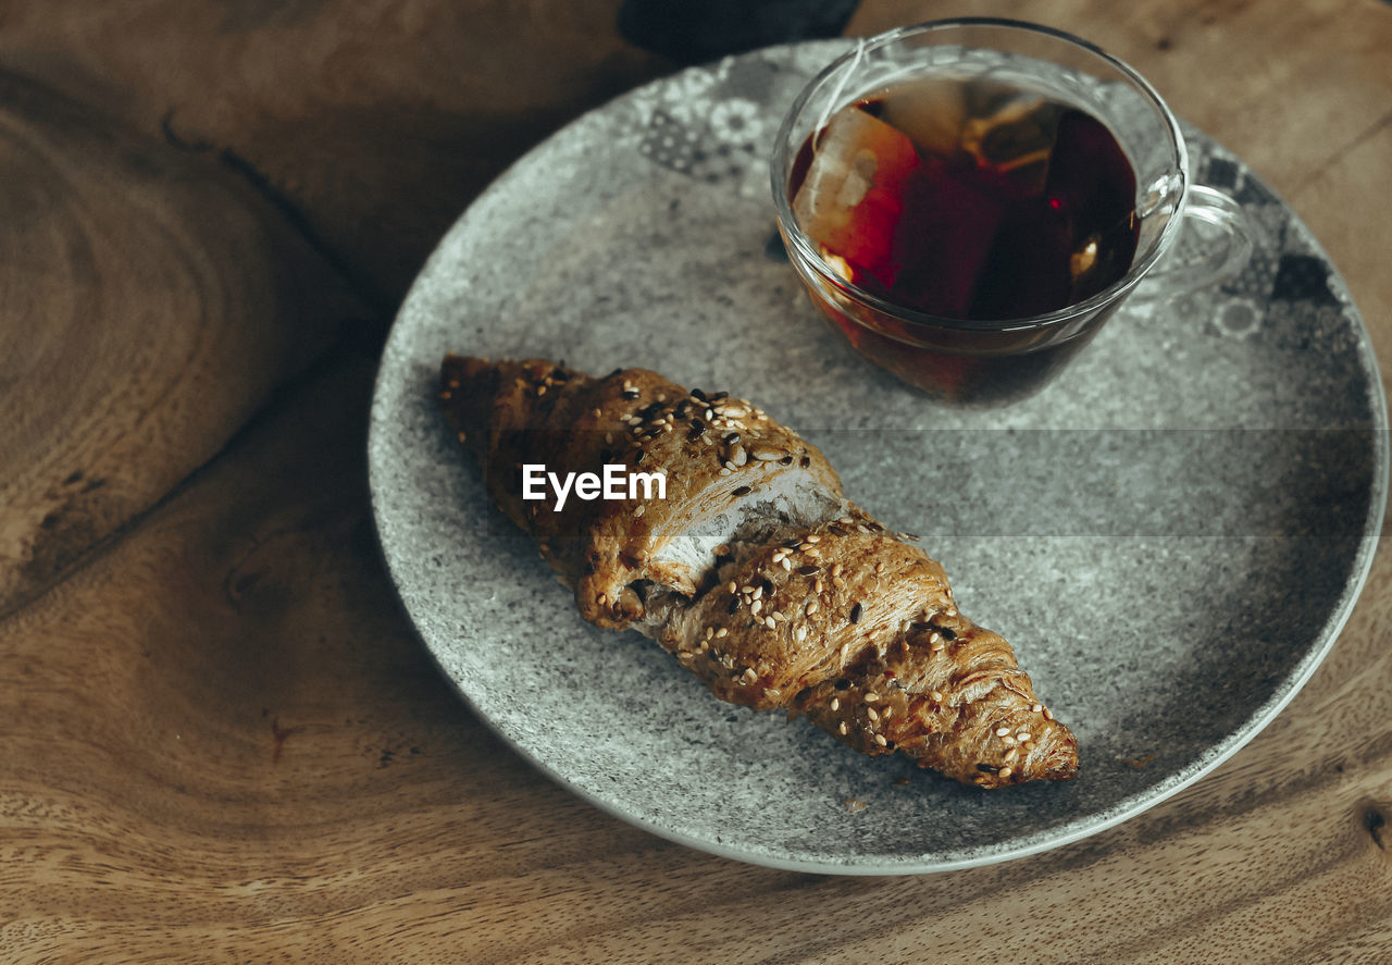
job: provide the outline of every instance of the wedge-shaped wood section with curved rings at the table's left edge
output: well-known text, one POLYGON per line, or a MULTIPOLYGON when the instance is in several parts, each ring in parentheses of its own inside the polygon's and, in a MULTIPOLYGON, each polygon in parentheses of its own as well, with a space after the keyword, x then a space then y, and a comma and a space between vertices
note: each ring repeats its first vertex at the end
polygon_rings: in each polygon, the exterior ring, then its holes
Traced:
POLYGON ((0 185, 6 613, 217 453, 363 309, 219 166, 4 74, 0 185))

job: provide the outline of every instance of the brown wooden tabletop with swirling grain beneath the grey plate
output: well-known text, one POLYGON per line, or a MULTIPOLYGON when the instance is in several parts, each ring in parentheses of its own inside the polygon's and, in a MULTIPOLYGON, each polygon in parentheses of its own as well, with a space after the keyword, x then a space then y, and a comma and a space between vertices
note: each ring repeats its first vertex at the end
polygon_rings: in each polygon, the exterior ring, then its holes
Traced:
MULTIPOLYGON (((917 879, 621 824, 441 681, 372 535, 391 311, 528 145, 668 68, 617 0, 0 11, 0 961, 1392 961, 1392 560, 1249 748, 917 879)), ((994 13, 1147 74, 1311 226, 1392 372, 1392 6, 994 13)))

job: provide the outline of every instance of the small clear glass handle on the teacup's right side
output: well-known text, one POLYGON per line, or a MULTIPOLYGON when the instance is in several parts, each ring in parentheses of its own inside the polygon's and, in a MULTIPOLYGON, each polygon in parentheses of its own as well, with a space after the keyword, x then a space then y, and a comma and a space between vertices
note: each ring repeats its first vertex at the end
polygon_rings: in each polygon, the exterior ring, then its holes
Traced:
POLYGON ((1150 298, 1169 301, 1221 284, 1242 272, 1251 258, 1254 226, 1232 196, 1193 184, 1183 219, 1173 249, 1147 278, 1158 283, 1148 285, 1150 298))

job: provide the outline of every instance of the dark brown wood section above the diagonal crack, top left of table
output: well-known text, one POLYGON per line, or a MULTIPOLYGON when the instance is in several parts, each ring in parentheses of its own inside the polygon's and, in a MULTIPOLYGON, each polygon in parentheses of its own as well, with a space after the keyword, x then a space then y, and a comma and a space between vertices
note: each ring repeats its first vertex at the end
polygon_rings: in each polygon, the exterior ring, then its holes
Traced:
POLYGON ((221 157, 390 309, 507 164, 665 68, 619 39, 618 6, 17 3, 0 65, 221 157))

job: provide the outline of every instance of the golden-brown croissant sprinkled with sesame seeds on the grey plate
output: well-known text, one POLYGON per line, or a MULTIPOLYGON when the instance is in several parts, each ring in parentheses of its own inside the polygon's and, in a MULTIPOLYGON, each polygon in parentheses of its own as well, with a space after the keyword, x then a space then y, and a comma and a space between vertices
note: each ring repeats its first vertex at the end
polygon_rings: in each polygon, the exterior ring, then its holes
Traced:
POLYGON ((805 716, 873 756, 983 788, 1076 774, 1076 738, 1011 645, 759 407, 646 369, 594 379, 540 359, 448 355, 440 379, 490 494, 587 621, 639 629, 720 699, 805 716), (537 465, 663 472, 665 490, 539 494, 537 465))

